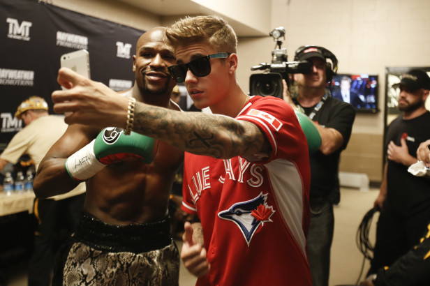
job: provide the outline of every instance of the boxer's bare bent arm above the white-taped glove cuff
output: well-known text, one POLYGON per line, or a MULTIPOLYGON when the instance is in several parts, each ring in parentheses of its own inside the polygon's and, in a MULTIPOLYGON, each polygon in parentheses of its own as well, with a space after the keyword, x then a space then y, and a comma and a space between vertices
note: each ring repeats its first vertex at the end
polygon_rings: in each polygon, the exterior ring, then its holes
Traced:
POLYGON ((87 126, 68 126, 66 132, 46 153, 34 178, 33 189, 37 197, 51 197, 73 190, 79 182, 66 172, 66 159, 88 144, 98 129, 87 126))

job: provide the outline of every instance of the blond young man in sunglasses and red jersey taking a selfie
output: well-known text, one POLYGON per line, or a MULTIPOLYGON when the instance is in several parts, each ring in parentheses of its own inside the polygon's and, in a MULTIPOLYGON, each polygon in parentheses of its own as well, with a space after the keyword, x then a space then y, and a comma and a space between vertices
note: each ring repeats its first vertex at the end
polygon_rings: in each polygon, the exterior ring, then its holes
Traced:
POLYGON ((126 127, 186 151, 182 209, 201 223, 186 223, 181 257, 198 285, 311 285, 309 153, 294 111, 242 91, 237 37, 222 18, 186 17, 166 40, 170 75, 214 114, 134 105, 65 69, 59 82, 71 89, 52 94, 54 109, 74 112, 69 124, 126 127))

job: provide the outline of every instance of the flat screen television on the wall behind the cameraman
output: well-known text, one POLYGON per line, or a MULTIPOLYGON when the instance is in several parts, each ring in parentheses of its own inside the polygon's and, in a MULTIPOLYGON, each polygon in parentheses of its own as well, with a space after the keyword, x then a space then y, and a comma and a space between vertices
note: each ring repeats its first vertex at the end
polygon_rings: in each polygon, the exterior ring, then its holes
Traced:
POLYGON ((378 75, 337 74, 333 76, 332 96, 350 103, 357 112, 378 112, 378 75))

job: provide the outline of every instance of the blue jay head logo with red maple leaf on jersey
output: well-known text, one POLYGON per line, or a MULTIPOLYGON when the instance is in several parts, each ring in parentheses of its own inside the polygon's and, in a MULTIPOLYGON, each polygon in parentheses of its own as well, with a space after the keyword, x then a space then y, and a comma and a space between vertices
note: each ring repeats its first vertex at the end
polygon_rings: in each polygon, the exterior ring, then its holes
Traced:
POLYGON ((267 195, 263 195, 261 192, 253 200, 237 202, 230 206, 229 209, 218 213, 219 218, 231 220, 239 227, 248 246, 258 227, 272 222, 270 217, 273 216, 275 211, 273 206, 267 206, 267 195))

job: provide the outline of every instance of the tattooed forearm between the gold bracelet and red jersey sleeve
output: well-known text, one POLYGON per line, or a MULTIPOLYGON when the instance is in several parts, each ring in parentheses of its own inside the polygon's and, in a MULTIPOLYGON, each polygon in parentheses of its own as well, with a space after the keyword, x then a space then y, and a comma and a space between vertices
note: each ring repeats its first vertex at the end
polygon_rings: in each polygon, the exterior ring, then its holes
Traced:
POLYGON ((214 158, 269 153, 269 142, 257 126, 223 115, 178 112, 136 103, 133 130, 214 158))

